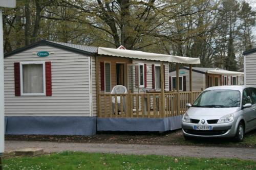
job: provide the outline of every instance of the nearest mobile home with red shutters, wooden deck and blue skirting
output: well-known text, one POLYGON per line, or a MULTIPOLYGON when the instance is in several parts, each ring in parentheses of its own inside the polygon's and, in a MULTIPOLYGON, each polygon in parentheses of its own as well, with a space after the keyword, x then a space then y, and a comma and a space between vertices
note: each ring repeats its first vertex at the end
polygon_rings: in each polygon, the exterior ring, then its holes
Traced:
POLYGON ((186 107, 177 100, 194 100, 199 92, 168 92, 168 62, 200 63, 46 40, 5 54, 6 134, 180 128, 186 107), (115 92, 116 85, 127 90, 115 92))

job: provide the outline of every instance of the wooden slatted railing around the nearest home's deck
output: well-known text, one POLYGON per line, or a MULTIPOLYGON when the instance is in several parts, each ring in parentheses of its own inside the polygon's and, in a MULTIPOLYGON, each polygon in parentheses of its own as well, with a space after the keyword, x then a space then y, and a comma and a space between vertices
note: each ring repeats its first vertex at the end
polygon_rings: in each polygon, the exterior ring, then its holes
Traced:
POLYGON ((182 115, 201 91, 99 94, 98 117, 162 118, 182 115), (162 105, 164 103, 164 105, 162 105), (164 106, 164 107, 162 107, 164 106))

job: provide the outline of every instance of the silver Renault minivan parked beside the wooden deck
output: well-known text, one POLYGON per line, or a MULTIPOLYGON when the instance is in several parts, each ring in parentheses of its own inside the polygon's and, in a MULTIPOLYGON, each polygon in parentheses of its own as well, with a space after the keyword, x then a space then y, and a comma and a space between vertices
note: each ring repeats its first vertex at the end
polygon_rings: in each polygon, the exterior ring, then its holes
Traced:
POLYGON ((232 137, 242 141, 256 128, 256 87, 215 86, 205 89, 182 117, 185 139, 232 137))

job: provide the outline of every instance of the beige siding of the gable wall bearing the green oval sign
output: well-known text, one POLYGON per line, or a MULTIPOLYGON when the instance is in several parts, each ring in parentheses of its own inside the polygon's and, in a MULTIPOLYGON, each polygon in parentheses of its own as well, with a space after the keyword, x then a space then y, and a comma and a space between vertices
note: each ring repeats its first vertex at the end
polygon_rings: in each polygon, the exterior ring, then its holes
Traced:
POLYGON ((6 116, 90 116, 89 57, 38 46, 4 59, 6 116), (41 58, 32 53, 54 52, 41 58), (14 62, 51 61, 52 96, 15 96, 14 62))

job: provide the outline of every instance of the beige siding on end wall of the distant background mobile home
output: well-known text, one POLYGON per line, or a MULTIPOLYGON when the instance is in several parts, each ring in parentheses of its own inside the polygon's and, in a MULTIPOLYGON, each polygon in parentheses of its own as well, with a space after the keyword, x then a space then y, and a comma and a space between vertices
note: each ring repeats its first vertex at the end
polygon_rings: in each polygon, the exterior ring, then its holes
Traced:
MULTIPOLYGON (((180 74, 180 76, 186 76, 186 91, 189 91, 189 70, 180 69, 180 71, 185 71, 185 74, 180 74)), ((176 70, 169 73, 169 76, 176 77, 176 70)), ((204 89, 205 75, 199 72, 192 71, 192 90, 202 90, 204 89)))

